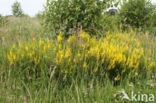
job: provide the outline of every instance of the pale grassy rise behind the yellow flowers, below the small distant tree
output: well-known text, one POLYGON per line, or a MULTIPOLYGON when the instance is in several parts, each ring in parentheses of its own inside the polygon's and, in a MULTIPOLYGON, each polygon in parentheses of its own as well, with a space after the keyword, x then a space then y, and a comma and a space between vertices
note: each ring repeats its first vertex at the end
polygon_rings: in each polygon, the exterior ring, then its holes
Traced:
POLYGON ((8 22, 0 27, 0 45, 10 45, 27 41, 41 33, 39 20, 29 17, 8 17, 8 22))

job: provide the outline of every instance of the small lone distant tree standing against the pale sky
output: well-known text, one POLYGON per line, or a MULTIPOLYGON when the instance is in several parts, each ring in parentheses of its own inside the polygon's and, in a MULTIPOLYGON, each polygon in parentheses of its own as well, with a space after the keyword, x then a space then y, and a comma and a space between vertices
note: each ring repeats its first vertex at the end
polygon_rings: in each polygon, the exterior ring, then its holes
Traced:
POLYGON ((13 5, 12 5, 12 12, 13 12, 13 15, 16 16, 16 17, 20 17, 20 16, 23 16, 23 11, 22 11, 22 8, 21 8, 21 4, 16 1, 13 5))

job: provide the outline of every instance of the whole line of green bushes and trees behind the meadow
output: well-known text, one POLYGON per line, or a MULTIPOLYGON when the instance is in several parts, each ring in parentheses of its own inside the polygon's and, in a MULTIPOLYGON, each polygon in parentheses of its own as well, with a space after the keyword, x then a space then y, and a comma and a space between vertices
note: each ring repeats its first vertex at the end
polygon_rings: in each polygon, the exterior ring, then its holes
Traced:
MULTIPOLYGON (((18 1, 12 5, 16 17, 28 16, 18 1)), ((130 30, 156 33, 156 5, 150 0, 47 0, 41 19, 44 33, 68 37, 80 29, 91 35, 130 30)), ((0 25, 6 23, 0 16, 0 25)))

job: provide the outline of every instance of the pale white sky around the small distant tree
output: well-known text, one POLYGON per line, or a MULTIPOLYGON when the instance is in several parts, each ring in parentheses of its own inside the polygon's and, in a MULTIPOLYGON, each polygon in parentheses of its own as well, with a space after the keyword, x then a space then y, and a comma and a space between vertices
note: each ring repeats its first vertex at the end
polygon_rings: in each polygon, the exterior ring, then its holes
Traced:
MULTIPOLYGON (((12 14, 12 4, 16 0, 0 0, 0 14, 3 16, 12 14)), ((25 14, 35 16, 38 12, 43 10, 43 5, 47 0, 17 0, 21 3, 22 10, 25 14)), ((152 3, 156 3, 156 0, 151 0, 152 3)))

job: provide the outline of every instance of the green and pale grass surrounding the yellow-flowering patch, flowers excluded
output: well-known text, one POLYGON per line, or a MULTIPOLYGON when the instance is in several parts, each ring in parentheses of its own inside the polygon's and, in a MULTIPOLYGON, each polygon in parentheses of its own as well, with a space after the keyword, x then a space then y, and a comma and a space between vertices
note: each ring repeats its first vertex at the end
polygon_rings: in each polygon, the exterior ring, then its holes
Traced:
MULTIPOLYGON (((8 24, 0 27, 1 103, 130 103, 128 100, 121 101, 120 92, 123 90, 129 96, 132 91, 136 94, 139 92, 154 94, 154 101, 156 101, 156 68, 148 72, 146 78, 132 80, 127 76, 118 84, 112 82, 107 76, 99 79, 83 75, 75 76, 70 80, 64 76, 62 80, 53 76, 53 72, 44 74, 40 78, 31 77, 25 82, 24 76, 18 75, 18 72, 21 72, 18 70, 22 68, 10 66, 3 56, 12 44, 40 37, 41 26, 36 18, 9 17, 8 19, 8 24)), ((141 40, 146 55, 151 49, 152 60, 156 61, 156 37, 140 34, 136 38, 141 40)))

